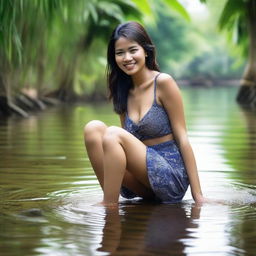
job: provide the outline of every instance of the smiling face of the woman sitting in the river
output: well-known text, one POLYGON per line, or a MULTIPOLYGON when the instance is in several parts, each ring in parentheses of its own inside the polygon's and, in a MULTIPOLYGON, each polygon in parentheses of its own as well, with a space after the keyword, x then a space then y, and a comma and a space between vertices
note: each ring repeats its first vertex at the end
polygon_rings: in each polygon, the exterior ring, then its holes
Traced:
POLYGON ((120 37, 115 43, 115 60, 127 75, 134 75, 146 68, 146 53, 136 41, 120 37))

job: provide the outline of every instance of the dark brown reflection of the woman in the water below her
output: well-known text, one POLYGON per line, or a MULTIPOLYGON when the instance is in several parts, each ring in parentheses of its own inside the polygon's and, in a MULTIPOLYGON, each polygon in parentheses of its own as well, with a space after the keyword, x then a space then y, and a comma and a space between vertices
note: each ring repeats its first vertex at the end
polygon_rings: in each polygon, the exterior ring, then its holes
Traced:
POLYGON ((111 255, 186 255, 183 241, 195 232, 200 207, 133 205, 106 213, 99 251, 111 255))

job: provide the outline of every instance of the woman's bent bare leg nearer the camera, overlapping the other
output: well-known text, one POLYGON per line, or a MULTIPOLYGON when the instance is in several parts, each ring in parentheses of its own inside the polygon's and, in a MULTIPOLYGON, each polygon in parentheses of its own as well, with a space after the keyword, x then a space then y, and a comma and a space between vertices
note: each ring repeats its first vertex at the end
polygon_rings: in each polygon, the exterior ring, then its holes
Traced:
MULTIPOLYGON (((104 203, 116 204, 126 169, 150 192, 146 146, 119 127, 108 127, 103 136, 104 203)), ((125 182, 125 181, 124 181, 125 182)))

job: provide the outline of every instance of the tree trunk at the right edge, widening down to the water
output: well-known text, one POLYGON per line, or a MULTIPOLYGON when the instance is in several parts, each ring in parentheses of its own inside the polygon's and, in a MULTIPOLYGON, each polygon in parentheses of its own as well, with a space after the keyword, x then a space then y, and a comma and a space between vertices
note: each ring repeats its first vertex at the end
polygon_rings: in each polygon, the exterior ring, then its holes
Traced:
POLYGON ((237 102, 250 109, 256 108, 256 1, 247 4, 249 57, 245 68, 241 87, 237 95, 237 102))

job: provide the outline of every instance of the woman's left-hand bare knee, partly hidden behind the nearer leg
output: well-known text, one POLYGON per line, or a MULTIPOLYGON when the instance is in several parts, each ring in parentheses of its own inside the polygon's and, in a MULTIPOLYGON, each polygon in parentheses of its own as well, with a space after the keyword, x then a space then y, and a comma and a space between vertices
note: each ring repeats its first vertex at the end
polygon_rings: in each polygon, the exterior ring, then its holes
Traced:
POLYGON ((84 126, 84 138, 86 141, 91 140, 93 137, 103 136, 107 129, 107 126, 99 121, 92 120, 84 126))

